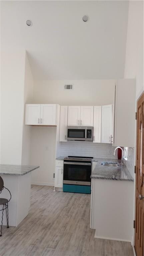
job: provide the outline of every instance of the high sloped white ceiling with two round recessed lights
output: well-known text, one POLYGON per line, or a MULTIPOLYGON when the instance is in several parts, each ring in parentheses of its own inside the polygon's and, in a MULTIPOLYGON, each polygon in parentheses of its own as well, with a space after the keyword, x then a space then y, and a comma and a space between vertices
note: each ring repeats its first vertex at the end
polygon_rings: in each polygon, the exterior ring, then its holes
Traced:
POLYGON ((1 1, 1 46, 25 48, 35 79, 122 78, 127 21, 128 1, 1 1))

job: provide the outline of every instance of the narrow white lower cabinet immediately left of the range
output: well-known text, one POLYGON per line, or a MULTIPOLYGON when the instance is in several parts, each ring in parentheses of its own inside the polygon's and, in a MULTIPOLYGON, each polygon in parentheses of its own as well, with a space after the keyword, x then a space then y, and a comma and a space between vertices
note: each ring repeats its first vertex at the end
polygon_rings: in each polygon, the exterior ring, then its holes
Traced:
POLYGON ((63 161, 56 160, 54 190, 62 191, 62 188, 63 188, 63 161), (60 189, 57 189, 57 188, 60 188, 60 189))

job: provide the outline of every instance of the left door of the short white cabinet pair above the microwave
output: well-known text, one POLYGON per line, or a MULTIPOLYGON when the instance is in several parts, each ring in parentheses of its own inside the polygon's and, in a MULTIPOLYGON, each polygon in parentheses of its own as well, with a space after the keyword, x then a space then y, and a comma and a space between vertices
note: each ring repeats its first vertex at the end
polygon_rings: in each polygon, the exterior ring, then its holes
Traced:
POLYGON ((68 126, 80 126, 80 106, 68 106, 68 126))

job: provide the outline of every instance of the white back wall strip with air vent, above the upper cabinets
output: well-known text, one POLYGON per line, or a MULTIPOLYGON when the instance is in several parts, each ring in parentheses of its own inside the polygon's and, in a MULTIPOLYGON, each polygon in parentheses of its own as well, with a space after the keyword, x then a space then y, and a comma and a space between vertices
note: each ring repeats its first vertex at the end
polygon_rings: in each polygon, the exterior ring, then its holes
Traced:
POLYGON ((107 105, 113 103, 114 80, 37 80, 34 103, 60 105, 107 105), (71 91, 65 84, 73 84, 71 91))

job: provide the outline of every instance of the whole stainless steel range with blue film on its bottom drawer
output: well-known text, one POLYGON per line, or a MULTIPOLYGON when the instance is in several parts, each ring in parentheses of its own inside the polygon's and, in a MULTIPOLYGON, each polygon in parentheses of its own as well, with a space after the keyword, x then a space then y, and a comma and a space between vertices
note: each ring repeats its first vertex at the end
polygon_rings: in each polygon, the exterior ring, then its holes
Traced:
POLYGON ((91 194, 91 161, 93 157, 64 158, 63 191, 91 194))

